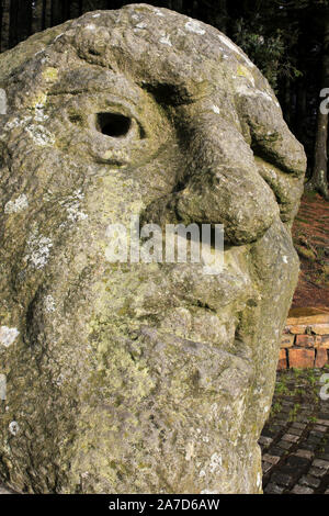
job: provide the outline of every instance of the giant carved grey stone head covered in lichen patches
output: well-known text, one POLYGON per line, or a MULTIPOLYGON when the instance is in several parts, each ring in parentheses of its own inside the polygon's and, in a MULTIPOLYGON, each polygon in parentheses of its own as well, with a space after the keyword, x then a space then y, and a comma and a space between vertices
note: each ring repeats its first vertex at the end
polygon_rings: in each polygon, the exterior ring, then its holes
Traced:
POLYGON ((213 27, 88 13, 0 57, 0 472, 29 492, 251 493, 305 156, 213 27), (111 263, 106 227, 222 223, 225 269, 111 263))

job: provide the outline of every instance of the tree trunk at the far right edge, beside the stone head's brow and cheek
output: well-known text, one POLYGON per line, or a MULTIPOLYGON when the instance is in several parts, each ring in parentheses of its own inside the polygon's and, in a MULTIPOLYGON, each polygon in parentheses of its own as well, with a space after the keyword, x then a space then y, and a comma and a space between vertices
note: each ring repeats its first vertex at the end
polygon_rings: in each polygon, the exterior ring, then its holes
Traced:
MULTIPOLYGON (((329 13, 327 13, 325 22, 326 23, 324 34, 322 88, 329 88, 329 13)), ((306 190, 316 190, 325 199, 329 200, 327 177, 327 141, 328 114, 321 113, 319 108, 314 154, 314 170, 309 182, 306 184, 306 190)))

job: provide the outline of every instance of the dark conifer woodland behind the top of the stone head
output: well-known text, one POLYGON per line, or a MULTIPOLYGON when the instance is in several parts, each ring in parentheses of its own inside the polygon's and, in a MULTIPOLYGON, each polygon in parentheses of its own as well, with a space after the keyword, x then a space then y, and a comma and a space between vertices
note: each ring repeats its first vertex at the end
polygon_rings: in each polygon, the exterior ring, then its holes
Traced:
MULTIPOLYGON (((35 32, 97 9, 118 9, 120 0, 2 0, 0 51, 35 32)), ((137 3, 137 2, 136 2, 137 3)), ((308 190, 329 199, 328 114, 319 111, 329 87, 329 0, 162 0, 216 26, 240 45, 269 79, 292 132, 308 157, 308 190)))

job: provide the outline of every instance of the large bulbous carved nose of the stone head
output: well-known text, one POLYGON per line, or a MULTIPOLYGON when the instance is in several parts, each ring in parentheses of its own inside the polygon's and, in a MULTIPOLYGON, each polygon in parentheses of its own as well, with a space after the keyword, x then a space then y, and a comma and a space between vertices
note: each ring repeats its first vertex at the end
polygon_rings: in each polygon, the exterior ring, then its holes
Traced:
POLYGON ((235 245, 260 238, 279 217, 271 188, 261 178, 250 146, 226 121, 200 119, 185 132, 185 173, 179 190, 148 206, 156 223, 224 224, 235 245))

